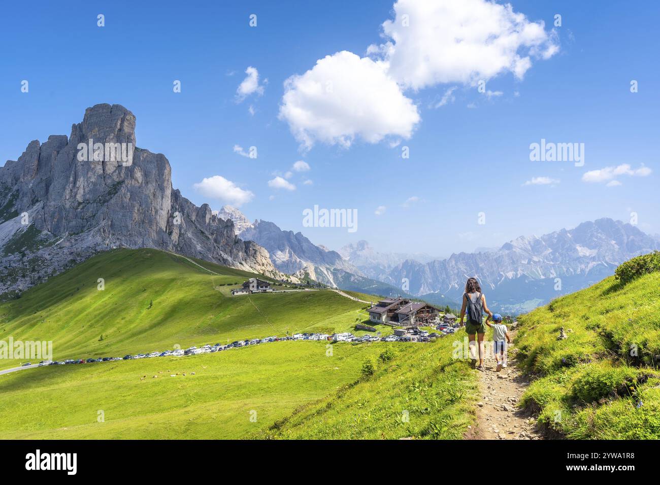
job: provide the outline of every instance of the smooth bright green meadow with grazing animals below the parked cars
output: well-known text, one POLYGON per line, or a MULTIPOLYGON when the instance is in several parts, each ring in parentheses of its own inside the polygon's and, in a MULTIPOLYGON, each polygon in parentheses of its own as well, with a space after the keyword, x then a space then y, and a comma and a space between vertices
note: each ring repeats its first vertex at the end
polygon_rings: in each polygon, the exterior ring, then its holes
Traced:
POLYGON ((324 342, 273 342, 9 373, 0 375, 0 429, 7 439, 245 437, 354 381, 387 345, 337 344, 327 356, 324 342))

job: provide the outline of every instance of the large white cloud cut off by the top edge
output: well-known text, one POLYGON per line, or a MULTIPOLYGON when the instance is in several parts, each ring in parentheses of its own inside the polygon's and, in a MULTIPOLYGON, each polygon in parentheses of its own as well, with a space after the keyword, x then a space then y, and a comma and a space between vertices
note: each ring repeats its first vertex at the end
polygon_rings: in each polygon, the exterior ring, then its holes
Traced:
POLYGON ((402 86, 474 84, 511 72, 522 79, 532 59, 558 50, 543 21, 531 22, 510 4, 486 0, 399 0, 395 18, 383 22, 385 42, 368 52, 388 65, 402 86))

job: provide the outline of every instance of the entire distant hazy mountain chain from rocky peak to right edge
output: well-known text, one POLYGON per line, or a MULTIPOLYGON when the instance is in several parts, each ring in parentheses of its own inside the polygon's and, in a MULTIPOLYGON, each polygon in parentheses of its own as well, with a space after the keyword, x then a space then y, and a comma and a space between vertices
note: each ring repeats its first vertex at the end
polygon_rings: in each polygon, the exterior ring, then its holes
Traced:
POLYGON ((265 247, 284 273, 330 286, 372 294, 410 294, 433 304, 458 306, 465 280, 477 276, 489 306, 522 313, 552 298, 585 288, 614 273, 623 261, 660 249, 660 240, 631 224, 609 218, 583 222, 572 230, 521 236, 502 247, 433 259, 424 254, 380 253, 362 240, 339 251, 314 245, 300 232, 282 231, 272 222, 246 224, 240 211, 223 208, 239 234, 265 247), (297 273, 296 273, 297 272, 297 273))

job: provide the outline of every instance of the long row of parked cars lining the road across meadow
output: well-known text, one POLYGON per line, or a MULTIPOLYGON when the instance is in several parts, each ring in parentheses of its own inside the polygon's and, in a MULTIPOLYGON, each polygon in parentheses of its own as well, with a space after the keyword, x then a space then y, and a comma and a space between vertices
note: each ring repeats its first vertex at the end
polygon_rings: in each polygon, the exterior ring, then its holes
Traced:
MULTIPOLYGON (((453 329, 452 329, 453 330, 453 329)), ((236 340, 230 344, 205 344, 199 348, 197 346, 191 346, 185 350, 176 349, 176 350, 165 350, 164 352, 151 352, 150 354, 135 354, 135 355, 125 355, 123 357, 100 357, 100 358, 88 358, 88 359, 68 359, 68 360, 42 360, 39 362, 39 367, 42 366, 63 366, 66 364, 91 364, 92 362, 110 362, 115 360, 133 360, 133 359, 145 359, 152 357, 167 357, 167 356, 187 356, 187 355, 197 355, 197 354, 207 354, 211 352, 221 352, 222 350, 228 350, 230 348, 245 347, 250 345, 265 344, 267 342, 279 342, 281 340, 329 340, 332 342, 378 342, 383 340, 384 342, 428 342, 434 337, 442 337, 442 335, 437 333, 432 333, 429 335, 427 331, 418 330, 414 331, 413 335, 403 335, 397 337, 397 335, 388 335, 387 337, 377 337, 376 335, 362 335, 362 337, 356 337, 352 333, 334 333, 333 335, 327 335, 325 333, 296 333, 294 335, 289 335, 286 337, 265 337, 263 339, 247 339, 247 340, 236 340)), ((30 366, 30 362, 22 364, 22 366, 30 366)))

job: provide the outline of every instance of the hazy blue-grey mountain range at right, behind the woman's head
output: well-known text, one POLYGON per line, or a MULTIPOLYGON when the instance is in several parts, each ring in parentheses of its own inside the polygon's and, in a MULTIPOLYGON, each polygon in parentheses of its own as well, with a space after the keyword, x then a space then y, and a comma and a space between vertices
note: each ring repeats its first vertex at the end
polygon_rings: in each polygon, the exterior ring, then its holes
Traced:
POLYGON ((635 226, 602 218, 541 237, 521 236, 492 252, 407 260, 382 280, 397 285, 407 278, 409 291, 420 298, 441 293, 460 301, 466 278, 477 276, 489 306, 520 313, 611 276, 620 263, 655 249, 660 242, 635 226))

